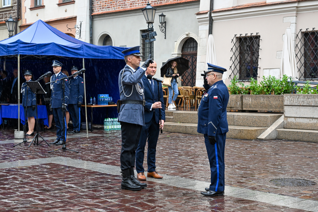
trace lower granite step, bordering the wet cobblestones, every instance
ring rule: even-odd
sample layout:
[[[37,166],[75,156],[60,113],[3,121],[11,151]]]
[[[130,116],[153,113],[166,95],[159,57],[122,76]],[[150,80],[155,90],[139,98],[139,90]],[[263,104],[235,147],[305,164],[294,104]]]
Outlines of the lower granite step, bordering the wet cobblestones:
[[[255,140],[266,129],[267,127],[246,127],[229,125],[229,132],[226,134],[226,137],[235,139]],[[197,124],[195,123],[165,122],[163,131],[202,135],[200,133],[197,133]]]

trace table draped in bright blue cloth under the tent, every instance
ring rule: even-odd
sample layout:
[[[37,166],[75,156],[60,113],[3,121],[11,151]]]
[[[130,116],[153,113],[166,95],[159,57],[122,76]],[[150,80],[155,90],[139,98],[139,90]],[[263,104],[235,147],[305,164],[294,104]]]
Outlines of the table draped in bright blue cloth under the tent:
[[[43,123],[45,126],[49,127],[49,119],[47,118],[47,112],[45,105],[38,105],[38,116],[40,120],[43,120]],[[1,110],[0,110],[0,125],[2,124],[3,118],[9,118],[9,119],[17,119],[18,118],[18,105],[17,104],[1,104]],[[36,116],[34,117],[37,118]],[[25,124],[25,118],[24,117],[24,108],[22,105],[20,105],[20,119],[21,123]]]

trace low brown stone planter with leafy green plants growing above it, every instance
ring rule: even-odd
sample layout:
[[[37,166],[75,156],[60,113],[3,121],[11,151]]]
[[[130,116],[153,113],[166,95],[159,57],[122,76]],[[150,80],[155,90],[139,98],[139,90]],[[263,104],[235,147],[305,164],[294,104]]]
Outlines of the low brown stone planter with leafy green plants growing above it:
[[[284,111],[284,96],[230,95],[227,110]]]

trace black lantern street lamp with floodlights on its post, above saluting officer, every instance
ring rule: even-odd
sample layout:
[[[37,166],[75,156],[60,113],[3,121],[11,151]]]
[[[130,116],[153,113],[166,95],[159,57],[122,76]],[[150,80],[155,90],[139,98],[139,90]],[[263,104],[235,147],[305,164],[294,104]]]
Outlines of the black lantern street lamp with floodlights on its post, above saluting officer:
[[[155,22],[155,14],[157,8],[154,8],[149,4],[149,1],[145,8],[141,9],[143,12],[143,15],[146,19],[146,23],[148,24],[148,32],[142,33],[142,38],[145,38],[145,42],[149,43],[149,54],[151,54],[152,50],[152,42],[156,40],[155,36],[157,33],[154,31],[153,23]],[[152,55],[153,58],[153,55]]]

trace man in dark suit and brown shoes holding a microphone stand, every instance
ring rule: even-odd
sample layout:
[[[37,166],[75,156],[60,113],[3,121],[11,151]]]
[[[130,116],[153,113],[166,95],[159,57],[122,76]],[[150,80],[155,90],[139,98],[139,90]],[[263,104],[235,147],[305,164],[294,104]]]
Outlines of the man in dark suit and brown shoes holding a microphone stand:
[[[145,146],[148,138],[148,153],[147,153],[147,177],[161,179],[156,172],[156,147],[160,128],[163,128],[165,121],[165,111],[163,103],[162,85],[159,83],[159,91],[157,82],[153,79],[147,79],[147,75],[154,76],[157,71],[156,62],[149,65],[145,75],[142,77],[145,86],[145,126],[142,127],[139,144],[136,150],[136,171],[138,180],[146,180],[143,168],[143,159],[145,156]],[[158,92],[160,99],[158,99]],[[161,125],[159,120],[159,110],[161,110]]]

